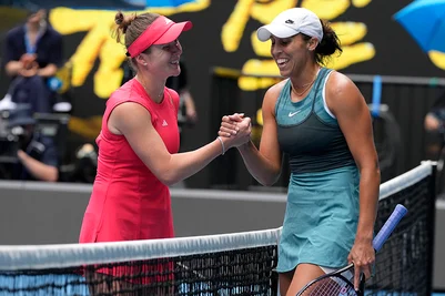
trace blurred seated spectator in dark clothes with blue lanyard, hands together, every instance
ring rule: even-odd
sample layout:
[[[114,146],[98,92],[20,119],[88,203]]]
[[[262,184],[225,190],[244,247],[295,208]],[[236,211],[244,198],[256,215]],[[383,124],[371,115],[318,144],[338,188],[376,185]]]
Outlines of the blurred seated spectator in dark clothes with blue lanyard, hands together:
[[[3,65],[11,78],[8,94],[14,103],[28,103],[33,112],[50,113],[55,98],[54,74],[62,63],[62,37],[45,20],[45,11],[32,12],[23,25],[7,33]]]

